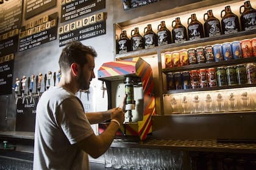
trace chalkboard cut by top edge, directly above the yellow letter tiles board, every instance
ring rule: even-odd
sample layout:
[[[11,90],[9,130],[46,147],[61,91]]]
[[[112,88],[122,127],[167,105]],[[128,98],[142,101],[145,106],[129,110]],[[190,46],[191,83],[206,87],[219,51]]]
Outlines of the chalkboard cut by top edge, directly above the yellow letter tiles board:
[[[56,0],[26,0],[25,19],[38,15],[52,7],[55,7]]]

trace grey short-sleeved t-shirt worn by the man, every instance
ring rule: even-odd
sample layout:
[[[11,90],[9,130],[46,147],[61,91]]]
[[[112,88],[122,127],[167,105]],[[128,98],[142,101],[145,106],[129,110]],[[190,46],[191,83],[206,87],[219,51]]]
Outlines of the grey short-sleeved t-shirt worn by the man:
[[[50,87],[36,114],[34,169],[89,169],[88,155],[76,143],[94,132],[79,98]]]

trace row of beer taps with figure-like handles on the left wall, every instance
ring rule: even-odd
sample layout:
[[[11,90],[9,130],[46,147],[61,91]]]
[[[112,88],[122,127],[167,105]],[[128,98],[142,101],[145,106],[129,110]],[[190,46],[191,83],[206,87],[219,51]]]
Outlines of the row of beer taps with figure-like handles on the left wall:
[[[18,100],[21,99],[26,103],[34,103],[35,104],[35,98],[40,98],[42,92],[46,91],[49,89],[51,84],[51,79],[53,77],[54,84],[56,84],[56,79],[58,83],[60,82],[60,78],[62,77],[62,72],[58,70],[58,72],[54,72],[52,76],[52,72],[49,71],[48,74],[39,73],[38,75],[32,74],[31,77],[26,77],[23,75],[23,77],[16,78],[15,79],[15,84],[13,85],[13,90],[15,91],[15,103],[18,103]],[[42,90],[42,81],[44,80],[44,90]],[[35,84],[35,85],[34,85]],[[35,86],[35,88],[34,88]],[[35,89],[35,90],[34,90]],[[27,90],[27,92],[26,92]]]

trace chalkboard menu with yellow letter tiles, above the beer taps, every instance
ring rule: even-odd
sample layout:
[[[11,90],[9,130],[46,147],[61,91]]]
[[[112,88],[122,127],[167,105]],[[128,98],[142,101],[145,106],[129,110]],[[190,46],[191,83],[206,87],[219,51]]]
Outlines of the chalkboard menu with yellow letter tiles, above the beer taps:
[[[24,26],[20,32],[19,51],[54,41],[57,37],[57,23],[58,13],[54,13]]]

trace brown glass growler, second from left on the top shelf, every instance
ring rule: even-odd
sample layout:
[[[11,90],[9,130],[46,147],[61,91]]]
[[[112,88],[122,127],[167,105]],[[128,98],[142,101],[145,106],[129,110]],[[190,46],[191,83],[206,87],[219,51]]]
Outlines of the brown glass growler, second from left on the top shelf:
[[[132,36],[132,38],[130,38],[132,50],[135,51],[135,50],[144,49],[143,37],[140,35],[138,27],[135,27],[135,29],[132,30],[132,32],[130,32],[130,35]]]

